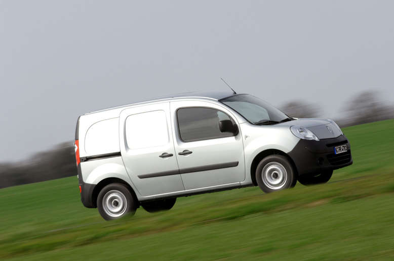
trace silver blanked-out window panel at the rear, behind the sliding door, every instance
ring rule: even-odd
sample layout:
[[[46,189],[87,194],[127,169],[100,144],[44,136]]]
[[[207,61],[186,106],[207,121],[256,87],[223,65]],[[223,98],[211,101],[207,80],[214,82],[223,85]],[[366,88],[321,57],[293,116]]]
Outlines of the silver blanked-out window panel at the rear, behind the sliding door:
[[[98,155],[120,151],[119,118],[96,122],[86,132],[85,151]]]

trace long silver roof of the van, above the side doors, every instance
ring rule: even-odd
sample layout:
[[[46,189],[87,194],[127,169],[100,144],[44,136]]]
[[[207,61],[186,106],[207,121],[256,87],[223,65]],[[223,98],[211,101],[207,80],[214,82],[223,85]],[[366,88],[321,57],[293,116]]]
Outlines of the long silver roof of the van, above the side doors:
[[[166,95],[166,96],[161,96],[161,97],[141,100],[141,101],[137,101],[137,102],[133,102],[133,103],[127,104],[127,105],[112,107],[112,108],[99,110],[99,111],[94,111],[94,112],[90,112],[90,113],[87,113],[87,114],[104,112],[104,111],[108,111],[108,110],[112,110],[112,109],[118,109],[118,108],[122,108],[122,107],[128,107],[128,106],[135,105],[135,104],[138,104],[138,103],[157,101],[157,100],[166,100],[166,99],[172,99],[172,98],[199,97],[199,98],[209,98],[209,99],[219,100],[219,99],[226,98],[226,97],[229,97],[229,96],[232,96],[232,95],[234,95],[234,93],[230,92],[230,91],[220,91],[220,92],[219,91],[206,91],[206,92],[194,92],[193,91],[193,92],[184,92],[184,93],[177,93],[177,94],[172,94],[172,95]]]

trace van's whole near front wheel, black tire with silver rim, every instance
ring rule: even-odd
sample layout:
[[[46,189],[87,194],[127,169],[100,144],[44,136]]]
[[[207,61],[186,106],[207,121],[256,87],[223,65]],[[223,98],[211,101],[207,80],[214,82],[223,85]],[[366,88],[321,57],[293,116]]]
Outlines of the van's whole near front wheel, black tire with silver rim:
[[[275,154],[260,161],[256,168],[256,181],[262,191],[270,193],[294,187],[297,176],[286,156]]]

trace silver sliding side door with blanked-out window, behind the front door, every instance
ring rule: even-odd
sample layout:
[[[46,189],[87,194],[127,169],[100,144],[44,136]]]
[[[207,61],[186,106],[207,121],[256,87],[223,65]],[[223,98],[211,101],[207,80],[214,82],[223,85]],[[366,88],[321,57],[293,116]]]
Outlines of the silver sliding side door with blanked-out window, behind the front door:
[[[170,123],[170,102],[126,109],[120,115],[122,158],[143,196],[184,190]]]

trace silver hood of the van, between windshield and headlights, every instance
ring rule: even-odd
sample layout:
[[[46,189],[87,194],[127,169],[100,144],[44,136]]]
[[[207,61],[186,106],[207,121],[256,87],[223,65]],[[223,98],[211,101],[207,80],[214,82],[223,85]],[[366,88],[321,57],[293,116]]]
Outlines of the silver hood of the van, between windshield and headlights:
[[[326,119],[297,119],[295,121],[289,121],[281,123],[284,126],[301,126],[309,129],[319,139],[330,139],[339,137],[342,132],[341,130]],[[331,132],[330,132],[331,130]]]

